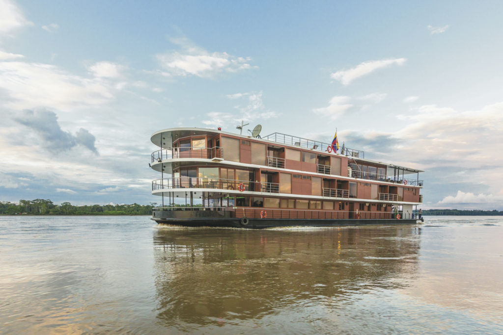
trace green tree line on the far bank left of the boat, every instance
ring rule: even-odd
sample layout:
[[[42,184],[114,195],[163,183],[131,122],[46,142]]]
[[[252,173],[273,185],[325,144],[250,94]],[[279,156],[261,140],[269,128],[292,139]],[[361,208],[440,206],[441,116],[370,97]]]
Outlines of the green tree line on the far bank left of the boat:
[[[0,201],[0,214],[16,215],[150,215],[157,203],[149,205],[107,204],[72,205],[70,202],[55,204],[49,199],[20,200],[19,203]]]

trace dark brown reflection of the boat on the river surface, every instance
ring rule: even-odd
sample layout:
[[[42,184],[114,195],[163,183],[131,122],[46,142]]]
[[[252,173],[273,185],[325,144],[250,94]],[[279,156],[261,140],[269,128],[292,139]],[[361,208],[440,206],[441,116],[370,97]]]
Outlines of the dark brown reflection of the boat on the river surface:
[[[157,321],[194,330],[314,306],[341,309],[362,294],[409,285],[420,234],[416,226],[160,228],[153,236]]]

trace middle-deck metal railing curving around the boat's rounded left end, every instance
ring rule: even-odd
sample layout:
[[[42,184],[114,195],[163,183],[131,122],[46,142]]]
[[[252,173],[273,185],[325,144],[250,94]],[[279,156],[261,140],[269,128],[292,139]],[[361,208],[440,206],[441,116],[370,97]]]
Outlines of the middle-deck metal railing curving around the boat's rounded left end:
[[[245,181],[223,178],[172,177],[152,181],[152,191],[177,188],[211,188],[222,190],[278,193],[278,183]]]

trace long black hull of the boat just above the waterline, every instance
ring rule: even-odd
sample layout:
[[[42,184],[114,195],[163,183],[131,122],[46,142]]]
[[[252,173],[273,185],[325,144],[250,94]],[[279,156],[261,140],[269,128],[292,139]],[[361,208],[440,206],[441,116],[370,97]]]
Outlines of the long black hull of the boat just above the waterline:
[[[364,225],[414,225],[417,219],[255,219],[249,218],[247,224],[242,224],[239,218],[152,218],[158,224],[184,227],[225,227],[264,229],[272,227],[343,227]]]

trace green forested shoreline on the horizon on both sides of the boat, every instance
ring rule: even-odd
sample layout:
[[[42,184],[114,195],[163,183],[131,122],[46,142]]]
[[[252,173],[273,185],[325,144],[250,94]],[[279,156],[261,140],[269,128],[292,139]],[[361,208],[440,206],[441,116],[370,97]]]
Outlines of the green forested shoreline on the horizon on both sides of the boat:
[[[0,215],[151,215],[156,202],[148,205],[132,204],[106,204],[106,205],[72,205],[70,202],[55,204],[49,199],[19,200],[19,203],[0,201]],[[172,204],[172,206],[185,207],[185,205]],[[501,215],[503,210],[481,209],[425,209],[423,216],[428,215],[455,215],[455,216],[481,216]]]

